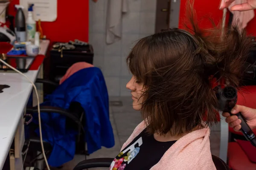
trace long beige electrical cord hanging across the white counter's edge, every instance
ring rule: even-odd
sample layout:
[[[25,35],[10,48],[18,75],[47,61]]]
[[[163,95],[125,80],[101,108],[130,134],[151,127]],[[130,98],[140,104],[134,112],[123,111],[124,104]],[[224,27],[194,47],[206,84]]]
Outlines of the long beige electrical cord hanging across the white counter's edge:
[[[50,167],[49,167],[46,155],[44,153],[44,144],[43,144],[42,127],[41,127],[40,103],[39,103],[39,96],[38,96],[38,92],[37,92],[36,86],[25,74],[21,73],[16,68],[12,67],[11,65],[9,65],[5,61],[3,61],[3,59],[0,59],[0,62],[2,62],[3,64],[7,65],[9,68],[11,68],[12,70],[16,71],[17,73],[19,73],[19,74],[23,75],[24,77],[26,77],[26,79],[33,85],[33,88],[35,89],[35,94],[36,94],[36,98],[37,98],[37,102],[38,102],[37,104],[38,104],[38,123],[39,123],[40,142],[41,142],[42,152],[43,152],[43,155],[44,155],[44,161],[45,161],[45,164],[47,166],[47,170],[50,170]]]

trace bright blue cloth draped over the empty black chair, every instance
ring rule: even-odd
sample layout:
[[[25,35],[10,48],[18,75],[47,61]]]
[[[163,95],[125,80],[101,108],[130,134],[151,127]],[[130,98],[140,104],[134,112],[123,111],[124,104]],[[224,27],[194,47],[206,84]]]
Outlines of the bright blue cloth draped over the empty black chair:
[[[71,102],[79,102],[85,112],[85,140],[88,153],[102,146],[113,147],[114,136],[109,120],[108,91],[99,68],[84,68],[66,79],[46,97],[41,105],[68,109]],[[33,121],[38,124],[37,114]],[[77,130],[65,128],[66,117],[58,113],[41,113],[43,139],[52,144],[48,163],[58,167],[73,159]],[[39,130],[36,130],[39,136]]]

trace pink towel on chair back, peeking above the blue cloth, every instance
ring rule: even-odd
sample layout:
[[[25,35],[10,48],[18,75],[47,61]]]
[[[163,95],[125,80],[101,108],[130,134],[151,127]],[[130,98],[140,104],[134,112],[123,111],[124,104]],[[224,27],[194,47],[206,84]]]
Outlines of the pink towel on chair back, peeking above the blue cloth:
[[[76,62],[73,64],[66,72],[66,74],[61,78],[60,84],[64,82],[67,78],[72,76],[74,73],[77,71],[84,69],[84,68],[89,68],[89,67],[94,67],[93,65],[87,63],[87,62]]]

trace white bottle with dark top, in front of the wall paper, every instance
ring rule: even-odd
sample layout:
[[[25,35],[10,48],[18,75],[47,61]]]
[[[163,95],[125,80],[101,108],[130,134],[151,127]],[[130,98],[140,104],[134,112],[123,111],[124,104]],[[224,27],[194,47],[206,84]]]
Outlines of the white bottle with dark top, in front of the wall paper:
[[[29,6],[28,17],[26,20],[27,41],[33,41],[35,38],[36,22],[33,20],[33,6],[34,4]]]

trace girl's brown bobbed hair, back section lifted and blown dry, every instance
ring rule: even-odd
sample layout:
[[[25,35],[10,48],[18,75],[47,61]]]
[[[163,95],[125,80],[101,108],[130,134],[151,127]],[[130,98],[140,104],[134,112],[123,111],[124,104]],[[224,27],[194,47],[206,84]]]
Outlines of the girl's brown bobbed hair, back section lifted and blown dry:
[[[187,3],[189,31],[172,28],[140,39],[127,57],[131,73],[143,82],[142,115],[149,133],[180,135],[216,123],[212,79],[239,87],[251,47],[244,30],[198,28]],[[191,33],[190,33],[191,32]]]

